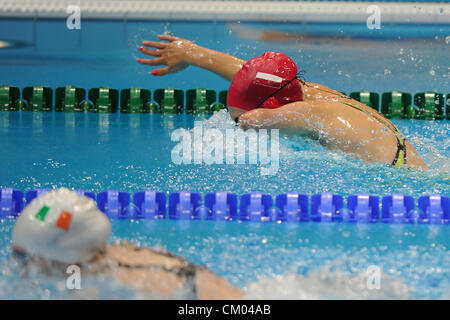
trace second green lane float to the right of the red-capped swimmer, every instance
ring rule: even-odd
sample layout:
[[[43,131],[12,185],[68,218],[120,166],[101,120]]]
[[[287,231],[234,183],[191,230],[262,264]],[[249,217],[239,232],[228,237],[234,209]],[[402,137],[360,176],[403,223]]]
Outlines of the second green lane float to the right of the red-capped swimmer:
[[[412,96],[407,92],[392,91],[381,95],[381,113],[386,118],[414,118]]]

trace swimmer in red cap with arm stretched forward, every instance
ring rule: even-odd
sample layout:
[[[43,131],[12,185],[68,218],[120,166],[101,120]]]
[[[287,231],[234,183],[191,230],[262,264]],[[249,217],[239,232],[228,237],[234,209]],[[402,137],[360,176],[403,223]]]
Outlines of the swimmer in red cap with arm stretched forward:
[[[400,130],[376,110],[336,90],[305,81],[297,65],[279,52],[266,52],[249,61],[193,42],[160,35],[162,41],[143,41],[139,50],[152,59],[149,66],[165,67],[154,76],[179,72],[188,66],[212,71],[231,81],[227,104],[231,117],[244,129],[279,129],[319,141],[366,162],[427,169]]]

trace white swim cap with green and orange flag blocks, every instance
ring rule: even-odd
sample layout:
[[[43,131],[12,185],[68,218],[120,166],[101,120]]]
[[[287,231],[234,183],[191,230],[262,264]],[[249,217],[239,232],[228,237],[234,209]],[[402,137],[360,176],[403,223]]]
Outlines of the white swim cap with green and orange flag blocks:
[[[94,200],[65,188],[34,199],[17,218],[12,245],[63,263],[91,260],[108,243],[111,224]]]

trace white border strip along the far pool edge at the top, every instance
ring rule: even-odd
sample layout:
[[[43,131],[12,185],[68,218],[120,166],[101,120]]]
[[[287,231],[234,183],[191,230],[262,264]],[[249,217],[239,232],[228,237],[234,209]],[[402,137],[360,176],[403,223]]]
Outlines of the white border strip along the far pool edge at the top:
[[[449,3],[425,2],[0,0],[0,17],[65,18],[69,5],[84,18],[363,23],[377,5],[382,23],[450,24]]]

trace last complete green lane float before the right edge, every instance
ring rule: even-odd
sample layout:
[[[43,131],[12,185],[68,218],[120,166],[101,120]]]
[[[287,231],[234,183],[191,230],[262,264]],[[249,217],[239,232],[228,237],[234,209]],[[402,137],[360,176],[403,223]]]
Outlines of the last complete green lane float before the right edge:
[[[417,119],[440,120],[444,118],[444,95],[442,93],[433,91],[416,93],[414,104],[419,107]]]

